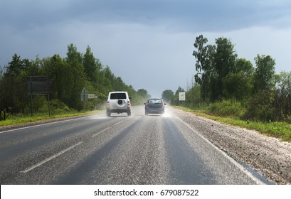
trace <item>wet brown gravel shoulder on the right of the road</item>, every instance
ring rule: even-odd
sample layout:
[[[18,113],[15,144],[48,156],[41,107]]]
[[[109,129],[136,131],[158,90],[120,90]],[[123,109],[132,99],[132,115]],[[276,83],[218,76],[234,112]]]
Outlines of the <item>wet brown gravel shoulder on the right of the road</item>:
[[[173,112],[236,161],[247,163],[277,184],[291,184],[291,143],[179,109]]]

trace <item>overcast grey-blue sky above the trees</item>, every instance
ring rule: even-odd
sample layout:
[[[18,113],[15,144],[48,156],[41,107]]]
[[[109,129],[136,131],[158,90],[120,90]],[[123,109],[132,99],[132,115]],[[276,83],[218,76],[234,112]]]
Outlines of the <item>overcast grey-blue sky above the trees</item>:
[[[70,43],[152,97],[187,89],[196,36],[231,39],[239,58],[275,58],[290,72],[290,0],[1,0],[0,65],[17,53],[66,56]]]

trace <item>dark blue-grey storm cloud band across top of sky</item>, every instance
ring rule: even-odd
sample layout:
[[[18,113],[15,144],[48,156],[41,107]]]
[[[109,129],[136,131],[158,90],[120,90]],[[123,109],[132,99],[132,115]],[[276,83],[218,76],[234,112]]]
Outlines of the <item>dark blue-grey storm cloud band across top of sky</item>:
[[[291,13],[288,1],[88,0],[2,1],[1,25],[21,30],[51,23],[165,24],[186,31],[231,31],[273,23]],[[284,24],[282,24],[284,25]],[[286,26],[286,24],[285,24]],[[289,25],[288,25],[289,26]]]

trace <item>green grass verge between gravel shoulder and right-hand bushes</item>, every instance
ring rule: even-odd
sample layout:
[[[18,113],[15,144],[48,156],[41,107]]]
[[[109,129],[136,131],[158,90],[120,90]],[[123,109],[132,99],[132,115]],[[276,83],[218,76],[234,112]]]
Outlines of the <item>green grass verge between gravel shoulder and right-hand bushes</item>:
[[[194,110],[186,107],[175,107],[186,112],[192,112],[198,116],[206,117],[223,124],[231,124],[233,126],[243,127],[245,129],[259,131],[261,134],[272,136],[281,141],[291,142],[291,124],[286,122],[255,122],[245,121],[237,117],[219,117],[209,114],[206,110]]]

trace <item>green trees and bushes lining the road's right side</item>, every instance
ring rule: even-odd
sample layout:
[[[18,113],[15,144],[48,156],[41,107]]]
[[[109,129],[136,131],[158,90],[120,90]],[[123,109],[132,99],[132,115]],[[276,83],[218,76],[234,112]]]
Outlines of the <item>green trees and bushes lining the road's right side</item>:
[[[203,35],[196,37],[193,55],[196,75],[186,91],[185,106],[205,105],[215,111],[220,104],[225,112],[235,109],[229,114],[241,119],[291,122],[291,72],[276,74],[270,55],[256,55],[254,67],[250,60],[238,58],[228,38],[216,38],[211,45]],[[179,104],[181,91],[165,90],[162,96]]]

